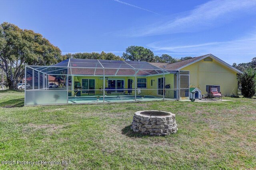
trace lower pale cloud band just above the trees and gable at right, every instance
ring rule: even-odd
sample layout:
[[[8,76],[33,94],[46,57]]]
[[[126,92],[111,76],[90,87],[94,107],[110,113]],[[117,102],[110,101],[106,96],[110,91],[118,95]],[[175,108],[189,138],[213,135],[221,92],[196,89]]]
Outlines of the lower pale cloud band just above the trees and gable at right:
[[[256,57],[256,30],[232,41],[182,45],[176,45],[168,41],[158,41],[147,46],[156,51],[155,53],[166,52],[170,55],[202,55],[212,53],[226,59],[230,64],[233,62],[249,62],[253,57]]]

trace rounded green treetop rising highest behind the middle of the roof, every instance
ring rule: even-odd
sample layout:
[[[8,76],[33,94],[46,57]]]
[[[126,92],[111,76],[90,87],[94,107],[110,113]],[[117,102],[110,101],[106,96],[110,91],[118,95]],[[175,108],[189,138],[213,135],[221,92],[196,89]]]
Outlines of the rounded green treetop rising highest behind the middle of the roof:
[[[122,56],[125,60],[155,62],[154,53],[141,46],[130,46]]]

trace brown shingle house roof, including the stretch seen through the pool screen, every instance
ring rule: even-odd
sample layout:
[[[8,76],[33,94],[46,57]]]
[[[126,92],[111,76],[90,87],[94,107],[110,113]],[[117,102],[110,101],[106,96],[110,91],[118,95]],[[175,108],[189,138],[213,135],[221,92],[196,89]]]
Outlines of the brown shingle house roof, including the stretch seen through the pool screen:
[[[138,70],[136,75],[154,75],[162,73],[162,70],[180,70],[185,66],[200,61],[206,57],[211,57],[234,70],[237,73],[242,73],[230,64],[222,61],[212,54],[202,55],[187,60],[178,61],[175,63],[148,63],[142,61],[111,61],[111,60],[95,60],[95,59],[67,59],[53,66],[30,66],[34,69],[41,70],[47,74],[82,74],[82,75],[102,75],[103,68],[105,75],[131,75],[135,74],[135,69]],[[67,72],[68,70],[68,72]]]

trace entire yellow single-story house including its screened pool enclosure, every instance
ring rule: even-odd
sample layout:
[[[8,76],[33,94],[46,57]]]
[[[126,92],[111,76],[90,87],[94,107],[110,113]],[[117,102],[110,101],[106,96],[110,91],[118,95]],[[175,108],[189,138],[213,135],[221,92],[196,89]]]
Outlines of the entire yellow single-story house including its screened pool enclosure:
[[[211,54],[171,64],[66,59],[25,69],[25,82],[32,87],[25,90],[25,105],[189,100],[190,87],[206,93],[207,85],[220,86],[230,96],[237,94],[240,72]],[[50,76],[63,76],[70,83],[48,88]]]

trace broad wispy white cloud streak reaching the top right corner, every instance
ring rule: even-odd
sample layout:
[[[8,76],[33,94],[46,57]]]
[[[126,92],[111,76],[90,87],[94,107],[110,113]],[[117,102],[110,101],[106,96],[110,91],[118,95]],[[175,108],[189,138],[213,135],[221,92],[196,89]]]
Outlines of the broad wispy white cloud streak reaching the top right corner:
[[[129,36],[162,35],[181,32],[194,32],[208,27],[215,27],[232,20],[246,12],[255,12],[256,0],[212,0],[197,6],[186,14],[170,16],[167,20],[153,25],[126,30]],[[252,9],[252,10],[250,10]],[[239,11],[241,11],[239,13]]]

